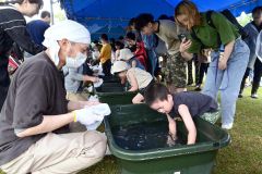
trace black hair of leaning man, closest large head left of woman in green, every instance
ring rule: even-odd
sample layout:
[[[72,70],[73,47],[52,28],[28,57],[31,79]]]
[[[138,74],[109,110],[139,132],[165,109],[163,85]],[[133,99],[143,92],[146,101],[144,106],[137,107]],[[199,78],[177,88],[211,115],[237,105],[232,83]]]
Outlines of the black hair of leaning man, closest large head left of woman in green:
[[[148,25],[148,23],[154,22],[154,16],[150,13],[142,13],[135,17],[135,29],[142,30],[143,27]]]

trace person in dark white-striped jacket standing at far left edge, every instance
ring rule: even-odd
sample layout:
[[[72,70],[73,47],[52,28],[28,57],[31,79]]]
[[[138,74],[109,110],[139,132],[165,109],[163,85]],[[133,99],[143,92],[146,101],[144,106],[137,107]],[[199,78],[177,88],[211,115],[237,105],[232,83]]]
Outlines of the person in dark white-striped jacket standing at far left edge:
[[[15,4],[0,7],[0,110],[10,85],[8,63],[13,44],[17,44],[32,54],[36,54],[44,49],[31,40],[23,16],[37,14],[41,5],[43,0],[19,0],[15,1]]]

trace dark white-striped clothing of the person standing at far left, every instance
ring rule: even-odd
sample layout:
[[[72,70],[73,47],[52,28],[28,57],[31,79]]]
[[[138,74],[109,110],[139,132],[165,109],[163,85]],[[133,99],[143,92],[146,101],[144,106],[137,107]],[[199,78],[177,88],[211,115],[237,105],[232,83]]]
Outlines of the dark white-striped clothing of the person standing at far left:
[[[8,58],[14,42],[31,54],[44,49],[31,40],[26,32],[25,18],[19,11],[11,7],[0,7],[0,110],[10,84]]]

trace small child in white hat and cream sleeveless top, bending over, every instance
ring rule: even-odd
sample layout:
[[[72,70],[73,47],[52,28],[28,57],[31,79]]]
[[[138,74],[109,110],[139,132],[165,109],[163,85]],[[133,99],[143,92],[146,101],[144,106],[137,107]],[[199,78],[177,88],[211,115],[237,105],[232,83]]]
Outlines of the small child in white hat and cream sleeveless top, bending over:
[[[153,76],[139,67],[130,67],[127,62],[116,61],[112,65],[112,73],[119,76],[121,83],[130,84],[128,91],[136,91],[139,94],[132,99],[133,103],[141,103],[144,100],[144,90],[148,85],[153,85]]]

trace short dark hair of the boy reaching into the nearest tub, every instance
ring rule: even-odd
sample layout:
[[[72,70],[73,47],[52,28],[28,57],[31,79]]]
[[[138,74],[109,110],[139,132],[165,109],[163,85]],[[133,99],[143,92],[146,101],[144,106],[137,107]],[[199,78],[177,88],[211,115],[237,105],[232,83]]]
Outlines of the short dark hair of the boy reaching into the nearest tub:
[[[152,105],[156,100],[167,100],[168,95],[170,95],[170,92],[165,85],[159,83],[150,85],[144,92],[145,103]]]

